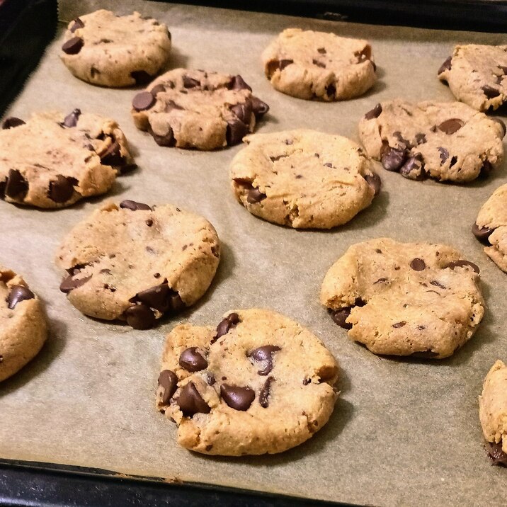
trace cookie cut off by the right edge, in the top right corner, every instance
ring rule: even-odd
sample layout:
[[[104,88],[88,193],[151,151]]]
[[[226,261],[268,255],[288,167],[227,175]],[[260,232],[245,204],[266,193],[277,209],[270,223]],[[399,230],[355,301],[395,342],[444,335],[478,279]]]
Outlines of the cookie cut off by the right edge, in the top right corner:
[[[457,45],[438,69],[458,101],[479,111],[497,109],[507,101],[507,45]]]

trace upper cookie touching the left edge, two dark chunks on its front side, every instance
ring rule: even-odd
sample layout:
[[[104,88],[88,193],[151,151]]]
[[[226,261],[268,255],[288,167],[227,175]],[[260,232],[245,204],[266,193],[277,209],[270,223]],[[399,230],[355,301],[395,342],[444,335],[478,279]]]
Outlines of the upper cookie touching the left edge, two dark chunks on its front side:
[[[106,193],[132,169],[127,139],[114,120],[74,109],[6,118],[0,130],[0,197],[9,203],[66,207]]]

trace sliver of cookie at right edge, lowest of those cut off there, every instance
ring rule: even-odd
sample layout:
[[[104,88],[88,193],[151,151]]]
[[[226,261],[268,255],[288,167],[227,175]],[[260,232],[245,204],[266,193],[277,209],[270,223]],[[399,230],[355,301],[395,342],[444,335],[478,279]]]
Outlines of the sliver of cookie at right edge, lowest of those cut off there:
[[[479,418],[493,465],[507,466],[507,366],[501,360],[489,370],[479,396]]]

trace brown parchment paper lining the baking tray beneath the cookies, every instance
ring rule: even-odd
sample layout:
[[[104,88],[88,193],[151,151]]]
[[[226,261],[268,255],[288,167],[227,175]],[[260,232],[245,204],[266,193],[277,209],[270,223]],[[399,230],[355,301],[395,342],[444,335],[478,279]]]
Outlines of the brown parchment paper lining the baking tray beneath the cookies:
[[[358,139],[361,115],[382,100],[452,101],[436,72],[457,42],[499,44],[503,35],[443,32],[315,21],[148,1],[62,1],[69,21],[101,6],[133,9],[166,22],[173,35],[169,67],[240,73],[271,110],[258,132],[309,127]],[[62,25],[63,26],[63,25]],[[380,81],[362,98],[302,101],[271,88],[264,47],[284,28],[334,31],[368,38]],[[409,181],[376,164],[383,189],[368,210],[331,232],[263,222],[229,188],[228,165],[241,147],[201,153],[158,147],[130,118],[132,89],[113,90],[75,79],[59,61],[62,29],[10,115],[41,109],[115,118],[139,169],[113,193],[59,211],[0,202],[0,261],[23,274],[45,301],[51,336],[42,353],[0,385],[0,457],[98,467],[377,505],[503,503],[507,470],[491,467],[483,449],[477,397],[496,358],[507,360],[506,276],[482,252],[470,226],[492,191],[506,183],[505,164],[486,182],[456,186]],[[53,257],[76,222],[106,200],[174,203],[199,212],[222,239],[222,261],[202,301],[178,318],[136,331],[84,317],[59,291]],[[319,304],[326,270],[357,241],[452,244],[482,270],[487,312],[479,331],[448,360],[380,358],[348,340]],[[280,455],[204,457],[179,448],[176,427],[154,409],[166,334],[190,320],[215,325],[232,308],[269,307],[321,338],[341,365],[341,397],[329,423],[307,443]]]

